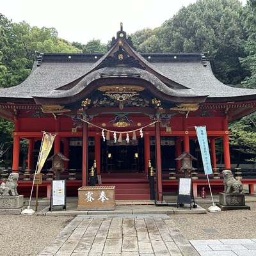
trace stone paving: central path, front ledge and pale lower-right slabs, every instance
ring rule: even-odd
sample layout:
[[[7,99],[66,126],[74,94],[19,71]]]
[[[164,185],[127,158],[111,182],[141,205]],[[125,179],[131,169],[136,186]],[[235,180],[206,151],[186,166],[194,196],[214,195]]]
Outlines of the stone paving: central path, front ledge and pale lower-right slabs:
[[[256,239],[188,241],[175,228],[170,214],[202,213],[201,207],[116,205],[115,211],[77,212],[49,207],[40,215],[76,216],[38,256],[256,256]],[[147,214],[145,214],[147,212]]]

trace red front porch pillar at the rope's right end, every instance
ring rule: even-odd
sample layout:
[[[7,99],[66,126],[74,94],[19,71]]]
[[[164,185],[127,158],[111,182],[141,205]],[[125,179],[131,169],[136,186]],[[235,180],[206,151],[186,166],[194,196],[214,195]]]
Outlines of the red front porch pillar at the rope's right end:
[[[157,177],[157,192],[163,192],[162,186],[162,164],[161,164],[161,128],[160,122],[155,124],[155,138],[156,138],[156,177]],[[160,195],[161,196],[161,195]]]

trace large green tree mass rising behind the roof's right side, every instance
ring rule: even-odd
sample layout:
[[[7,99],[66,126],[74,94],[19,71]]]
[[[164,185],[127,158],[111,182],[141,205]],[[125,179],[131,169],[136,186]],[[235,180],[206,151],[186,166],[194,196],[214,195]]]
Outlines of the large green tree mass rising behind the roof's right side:
[[[141,52],[209,51],[207,59],[215,76],[225,84],[240,84],[246,76],[239,62],[239,57],[245,56],[242,15],[239,0],[198,0],[182,7],[160,28],[145,29],[145,40],[137,40],[138,49]],[[152,42],[158,42],[157,47]]]

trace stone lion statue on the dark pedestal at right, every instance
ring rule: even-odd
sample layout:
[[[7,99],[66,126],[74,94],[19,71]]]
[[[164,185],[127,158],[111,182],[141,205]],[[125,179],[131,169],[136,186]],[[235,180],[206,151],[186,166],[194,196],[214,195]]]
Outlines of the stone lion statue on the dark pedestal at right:
[[[243,184],[240,180],[236,180],[230,170],[223,170],[224,191],[223,193],[241,193],[243,191]]]

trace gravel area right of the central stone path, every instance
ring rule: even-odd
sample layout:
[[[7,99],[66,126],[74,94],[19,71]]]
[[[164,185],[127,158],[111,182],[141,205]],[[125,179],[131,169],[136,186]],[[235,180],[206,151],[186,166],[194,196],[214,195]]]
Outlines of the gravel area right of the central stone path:
[[[208,209],[212,204],[198,204]],[[188,240],[256,238],[256,202],[248,202],[250,210],[207,212],[207,214],[171,215],[177,228]],[[214,229],[218,233],[205,233]],[[211,230],[212,231],[212,230]]]

